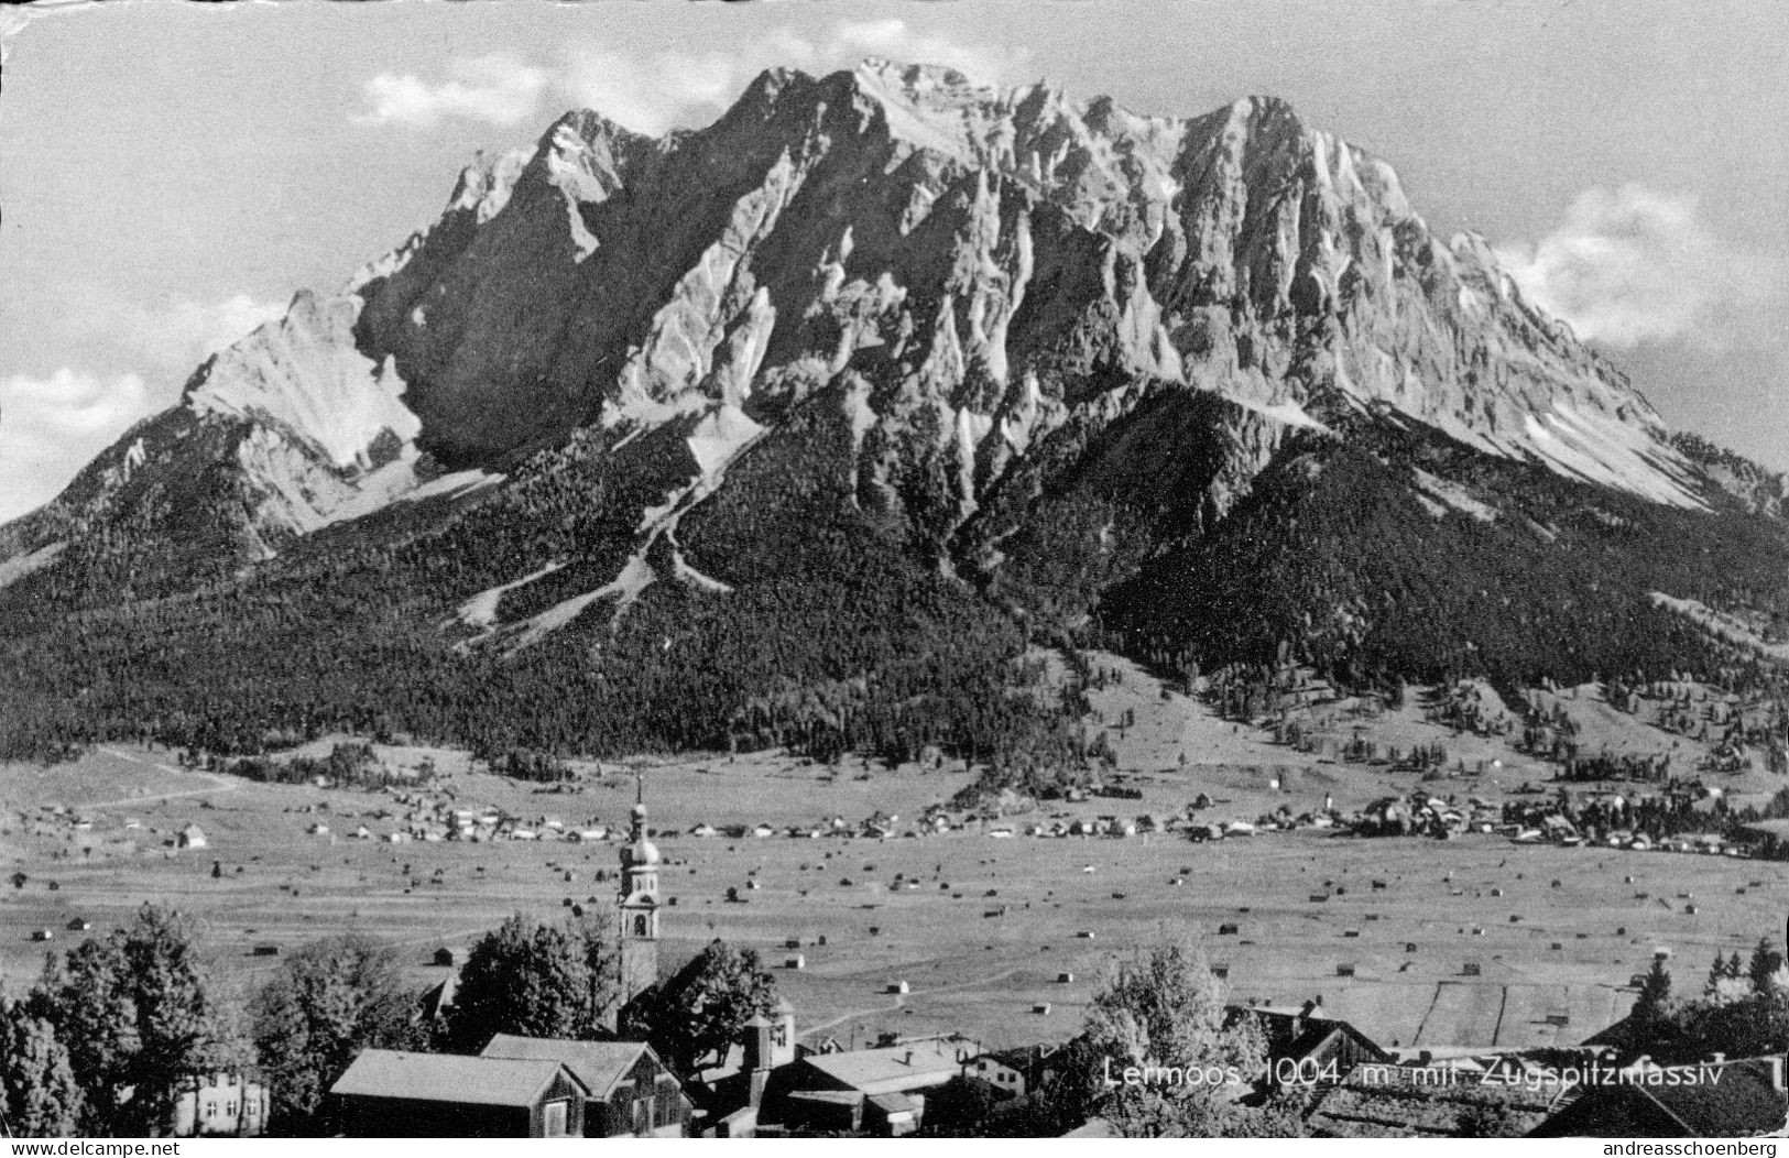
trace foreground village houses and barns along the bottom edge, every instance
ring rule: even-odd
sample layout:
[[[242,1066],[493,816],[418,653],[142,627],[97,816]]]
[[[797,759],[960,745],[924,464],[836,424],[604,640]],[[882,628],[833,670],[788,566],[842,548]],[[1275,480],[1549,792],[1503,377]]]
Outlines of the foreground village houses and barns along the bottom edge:
[[[1229,1006],[1267,1043],[1238,1095],[1290,1092],[1315,1137],[1748,1137],[1784,1129],[1784,1060],[1657,1065],[1608,1047],[1383,1049],[1318,1000]],[[1047,1092],[1056,1045],[984,1049],[961,1035],[886,1035],[862,1049],[796,1040],[782,1002],[723,1067],[673,1074],[644,1042],[497,1035],[478,1056],[363,1051],[331,1088],[349,1137],[902,1137],[954,1129],[964,1106]],[[982,1097],[962,1097],[975,1090]],[[930,1117],[928,1117],[930,1106]],[[1098,1120],[1075,1133],[1102,1133]]]

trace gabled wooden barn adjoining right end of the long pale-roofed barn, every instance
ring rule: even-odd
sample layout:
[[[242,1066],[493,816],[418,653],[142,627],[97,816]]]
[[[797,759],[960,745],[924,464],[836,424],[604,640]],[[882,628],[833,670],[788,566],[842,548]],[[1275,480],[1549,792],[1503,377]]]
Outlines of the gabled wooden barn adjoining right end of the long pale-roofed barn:
[[[646,1042],[574,1042],[499,1033],[479,1058],[562,1063],[587,1090],[587,1138],[682,1138],[689,1128],[689,1095]]]

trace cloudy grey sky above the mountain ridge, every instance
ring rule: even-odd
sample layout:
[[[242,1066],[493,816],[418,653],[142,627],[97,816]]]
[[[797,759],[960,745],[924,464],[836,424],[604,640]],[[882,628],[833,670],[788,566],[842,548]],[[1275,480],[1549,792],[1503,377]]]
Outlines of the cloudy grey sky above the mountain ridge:
[[[649,132],[864,55],[1163,115],[1277,95],[1481,233],[1673,428],[1789,469],[1775,0],[104,0],[0,11],[0,521],[476,150]]]

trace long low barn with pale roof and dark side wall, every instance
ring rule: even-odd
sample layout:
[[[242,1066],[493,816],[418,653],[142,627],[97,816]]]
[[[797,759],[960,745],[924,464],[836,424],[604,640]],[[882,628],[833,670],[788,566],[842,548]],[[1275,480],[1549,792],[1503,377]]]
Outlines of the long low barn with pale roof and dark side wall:
[[[553,1060],[363,1049],[329,1097],[349,1138],[578,1138],[589,1090]]]

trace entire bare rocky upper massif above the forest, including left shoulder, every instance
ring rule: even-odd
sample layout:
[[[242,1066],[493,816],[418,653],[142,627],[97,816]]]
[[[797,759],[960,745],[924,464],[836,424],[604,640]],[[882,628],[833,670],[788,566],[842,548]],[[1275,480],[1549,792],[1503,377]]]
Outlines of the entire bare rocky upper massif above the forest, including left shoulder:
[[[1134,417],[1175,392],[1208,399],[1181,410],[1209,437]],[[998,566],[1070,476],[1147,490],[1125,458],[1184,460],[1156,507],[1209,528],[1288,439],[1358,422],[1703,503],[1658,415],[1480,238],[1433,236],[1386,163],[1285,102],[1177,120],[866,61],[767,72],[701,131],[574,111],[479,158],[433,226],[200,367],[11,553],[131,503],[175,542],[191,515],[154,514],[157,480],[202,476],[224,498],[200,521],[258,558],[437,462],[510,471],[583,428],[614,447],[805,406],[852,437],[787,469],[846,471],[859,512],[946,569]],[[673,489],[708,494],[755,442],[691,440]]]

